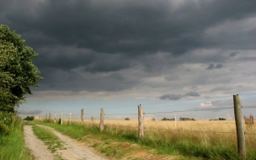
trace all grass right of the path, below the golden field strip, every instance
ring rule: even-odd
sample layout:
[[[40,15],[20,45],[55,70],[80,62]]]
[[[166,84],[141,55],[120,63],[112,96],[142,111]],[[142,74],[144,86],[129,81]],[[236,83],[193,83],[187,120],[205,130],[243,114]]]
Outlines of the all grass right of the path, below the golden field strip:
[[[124,125],[106,126],[105,130],[100,132],[98,125],[93,124],[43,124],[79,141],[85,141],[99,152],[114,159],[136,159],[136,157],[139,157],[137,159],[240,159],[237,157],[236,137],[228,134],[211,133],[209,136],[205,133],[159,130],[147,131],[145,138],[139,140],[136,128],[124,127]],[[256,149],[253,143],[255,137],[249,138],[248,141],[251,142],[247,143],[247,159],[255,159]],[[150,158],[140,154],[159,157],[162,155],[162,157]]]

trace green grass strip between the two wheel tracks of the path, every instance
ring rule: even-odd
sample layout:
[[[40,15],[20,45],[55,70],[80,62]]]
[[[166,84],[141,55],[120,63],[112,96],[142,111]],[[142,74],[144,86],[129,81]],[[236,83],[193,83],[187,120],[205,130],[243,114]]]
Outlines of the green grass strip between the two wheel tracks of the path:
[[[63,141],[61,141],[50,129],[33,126],[33,131],[35,136],[37,136],[41,141],[44,141],[50,152],[56,153],[58,150],[66,149],[63,147]],[[61,156],[57,153],[55,154],[55,157],[56,159],[61,159]]]

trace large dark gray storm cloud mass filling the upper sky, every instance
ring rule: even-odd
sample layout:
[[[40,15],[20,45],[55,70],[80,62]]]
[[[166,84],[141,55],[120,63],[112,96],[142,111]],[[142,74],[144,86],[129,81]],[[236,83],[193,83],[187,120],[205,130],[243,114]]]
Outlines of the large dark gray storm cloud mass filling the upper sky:
[[[253,24],[254,6],[232,0],[3,0],[0,20],[40,53],[35,65],[45,78],[35,90],[120,91],[183,64],[226,68],[238,52],[237,61],[255,61],[240,57],[241,50],[256,49],[255,27],[230,29],[240,21]],[[227,55],[204,52],[227,49]],[[171,82],[182,74],[165,77]]]

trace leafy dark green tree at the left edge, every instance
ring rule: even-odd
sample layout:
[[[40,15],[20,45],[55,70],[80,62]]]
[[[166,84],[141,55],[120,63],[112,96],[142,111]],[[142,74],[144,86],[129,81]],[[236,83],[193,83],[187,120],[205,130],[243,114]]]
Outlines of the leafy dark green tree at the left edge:
[[[29,87],[37,87],[42,79],[33,64],[38,54],[24,41],[8,26],[0,25],[0,111],[15,112],[25,94],[32,94]]]

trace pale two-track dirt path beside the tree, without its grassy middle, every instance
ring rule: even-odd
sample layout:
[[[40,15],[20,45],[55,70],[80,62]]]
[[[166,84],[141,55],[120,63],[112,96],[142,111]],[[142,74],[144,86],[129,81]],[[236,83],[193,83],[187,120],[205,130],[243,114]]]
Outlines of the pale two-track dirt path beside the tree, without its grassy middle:
[[[61,141],[64,141],[65,150],[59,150],[56,153],[60,155],[63,159],[72,159],[72,160],[105,160],[106,158],[100,157],[93,152],[93,148],[85,147],[78,141],[61,135],[60,132],[55,131],[51,127],[45,125],[39,125],[41,127],[50,128],[56,136],[58,136]],[[35,155],[35,160],[53,160],[55,159],[54,155],[47,150],[43,141],[37,139],[32,131],[31,125],[24,125],[24,135],[25,135],[25,144]]]

